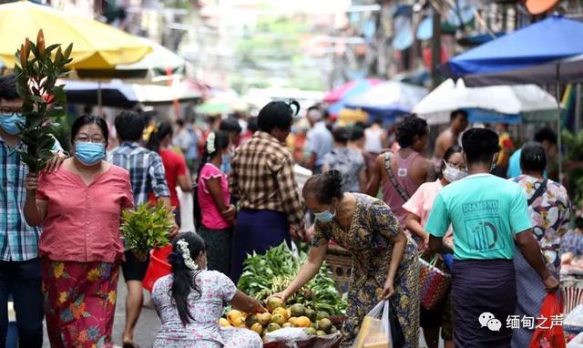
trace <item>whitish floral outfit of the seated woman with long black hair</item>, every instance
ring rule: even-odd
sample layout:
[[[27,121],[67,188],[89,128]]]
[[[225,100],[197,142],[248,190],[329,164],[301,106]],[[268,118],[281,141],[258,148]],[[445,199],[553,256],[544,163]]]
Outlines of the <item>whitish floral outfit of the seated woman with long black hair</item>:
[[[191,273],[194,276],[194,272]],[[160,278],[154,284],[152,300],[162,325],[154,348],[261,348],[259,334],[246,329],[223,329],[219,318],[224,303],[230,302],[237,288],[219,271],[200,271],[196,282],[200,295],[189,294],[189,310],[192,318],[185,326],[180,321],[179,311],[170,297],[172,275]]]

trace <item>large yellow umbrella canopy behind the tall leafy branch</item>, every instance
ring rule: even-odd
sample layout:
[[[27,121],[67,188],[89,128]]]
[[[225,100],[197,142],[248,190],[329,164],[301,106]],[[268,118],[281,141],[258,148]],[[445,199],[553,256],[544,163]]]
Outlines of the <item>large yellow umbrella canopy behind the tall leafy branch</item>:
[[[49,6],[27,1],[0,5],[0,59],[15,65],[16,48],[26,37],[36,41],[43,29],[46,46],[73,43],[69,65],[74,69],[109,69],[142,59],[152,48],[137,37],[93,19],[70,15]]]

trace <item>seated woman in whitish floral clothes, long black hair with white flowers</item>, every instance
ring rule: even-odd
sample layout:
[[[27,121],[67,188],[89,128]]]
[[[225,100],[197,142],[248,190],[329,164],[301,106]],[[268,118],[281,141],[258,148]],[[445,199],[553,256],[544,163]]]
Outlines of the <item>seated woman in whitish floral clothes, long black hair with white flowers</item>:
[[[265,312],[261,303],[239,292],[229,277],[207,271],[204,240],[180,233],[169,256],[172,274],[154,284],[152,300],[162,325],[154,348],[261,348],[259,334],[219,326],[224,303],[242,312]]]

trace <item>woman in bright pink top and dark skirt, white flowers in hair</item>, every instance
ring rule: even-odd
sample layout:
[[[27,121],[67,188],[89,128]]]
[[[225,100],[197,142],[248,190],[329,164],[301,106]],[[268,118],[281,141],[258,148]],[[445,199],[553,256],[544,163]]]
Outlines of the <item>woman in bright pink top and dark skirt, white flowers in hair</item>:
[[[230,273],[231,241],[235,206],[230,204],[227,174],[220,170],[229,156],[229,133],[220,130],[207,137],[197,185],[198,232],[209,246],[209,269]]]

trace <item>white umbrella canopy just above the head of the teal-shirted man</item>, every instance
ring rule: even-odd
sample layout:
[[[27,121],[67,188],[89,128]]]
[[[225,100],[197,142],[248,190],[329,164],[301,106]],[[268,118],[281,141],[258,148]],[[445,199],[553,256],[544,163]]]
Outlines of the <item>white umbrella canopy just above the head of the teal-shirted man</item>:
[[[455,83],[450,78],[424,97],[413,112],[429,124],[444,124],[458,108],[547,120],[556,116],[557,99],[536,85],[465,87],[463,79]]]

